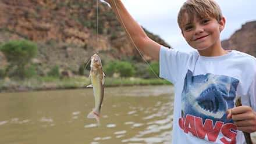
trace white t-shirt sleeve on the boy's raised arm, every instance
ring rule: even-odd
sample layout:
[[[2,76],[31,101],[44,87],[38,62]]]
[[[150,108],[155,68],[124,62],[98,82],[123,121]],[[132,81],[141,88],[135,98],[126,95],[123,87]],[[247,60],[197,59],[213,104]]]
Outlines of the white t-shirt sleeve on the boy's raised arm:
[[[159,53],[159,77],[175,84],[182,71],[186,69],[188,60],[189,53],[161,46]]]

